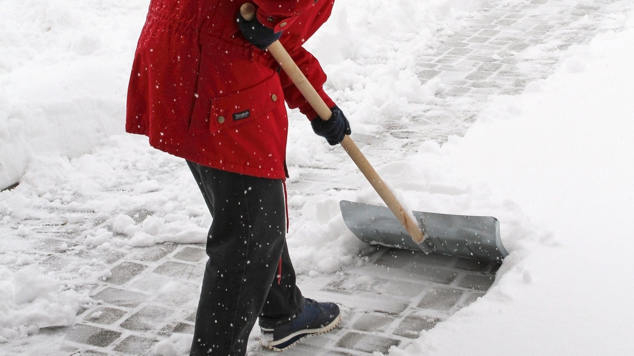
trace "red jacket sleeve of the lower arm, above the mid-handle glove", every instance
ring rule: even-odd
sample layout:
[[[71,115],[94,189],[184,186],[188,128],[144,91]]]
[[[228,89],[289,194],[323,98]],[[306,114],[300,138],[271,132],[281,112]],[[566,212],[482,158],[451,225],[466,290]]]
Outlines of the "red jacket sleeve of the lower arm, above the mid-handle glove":
[[[321,99],[328,105],[328,108],[335,106],[334,101],[330,99],[328,94],[323,90],[323,84],[326,82],[326,73],[323,72],[321,65],[314,58],[313,54],[306,51],[306,49],[300,47],[293,53],[290,53],[297,67],[306,75],[306,79],[313,84],[313,87],[321,96]],[[311,105],[304,99],[302,93],[295,87],[295,84],[288,78],[288,75],[283,70],[280,72],[281,87],[284,91],[284,98],[288,107],[291,109],[299,108],[299,111],[306,115],[309,120],[316,118],[317,112],[311,107]]]

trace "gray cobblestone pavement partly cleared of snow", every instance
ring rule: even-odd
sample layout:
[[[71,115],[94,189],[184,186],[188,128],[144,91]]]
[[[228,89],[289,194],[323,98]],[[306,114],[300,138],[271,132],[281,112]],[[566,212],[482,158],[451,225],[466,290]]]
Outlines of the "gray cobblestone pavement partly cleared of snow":
[[[553,71],[563,49],[590,41],[598,33],[598,24],[609,22],[612,4],[533,0],[482,11],[443,39],[436,53],[419,58],[420,78],[439,78],[447,87],[439,102],[425,106],[407,125],[386,123],[381,135],[398,139],[408,151],[424,139],[442,143],[451,134],[462,134],[489,96],[522,92],[527,83]],[[540,56],[531,56],[536,51]],[[440,121],[454,125],[437,131]],[[367,151],[370,157],[388,161],[396,154],[404,155],[391,152],[393,139],[387,147],[382,146],[381,137],[355,138],[361,145],[372,144]],[[328,180],[330,172],[299,169],[302,179],[290,182],[289,193],[320,193],[316,191],[320,185],[311,182]],[[137,222],[146,215],[143,211],[131,214]],[[99,227],[102,222],[97,217],[87,224]],[[68,257],[60,246],[81,244],[72,228],[48,221],[39,231],[50,236],[39,245],[39,253],[46,256],[44,266],[59,269],[73,258],[84,259],[98,261],[112,273],[91,294],[103,303],[81,310],[74,326],[42,329],[37,336],[59,339],[63,345],[59,355],[151,355],[158,341],[173,333],[192,333],[204,246],[163,244],[125,251],[90,250]],[[365,262],[357,267],[328,276],[299,276],[305,295],[339,303],[343,319],[337,329],[308,338],[286,355],[370,355],[385,353],[391,346],[404,347],[420,331],[484,295],[499,267],[387,248],[368,247],[362,254]],[[257,336],[256,331],[250,353],[272,353],[257,345]],[[36,341],[2,347],[25,350],[20,345],[25,342]]]

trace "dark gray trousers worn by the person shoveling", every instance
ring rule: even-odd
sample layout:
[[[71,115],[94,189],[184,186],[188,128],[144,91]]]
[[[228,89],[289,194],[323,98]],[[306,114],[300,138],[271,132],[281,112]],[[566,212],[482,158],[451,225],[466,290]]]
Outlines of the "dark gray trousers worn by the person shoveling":
[[[214,218],[190,355],[243,356],[257,317],[276,327],[304,307],[286,245],[282,181],[187,163]]]

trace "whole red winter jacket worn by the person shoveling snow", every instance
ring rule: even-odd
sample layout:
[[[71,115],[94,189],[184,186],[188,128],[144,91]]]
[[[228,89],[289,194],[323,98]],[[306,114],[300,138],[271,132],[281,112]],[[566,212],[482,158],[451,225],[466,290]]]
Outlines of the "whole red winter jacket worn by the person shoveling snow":
[[[245,0],[246,1],[246,0]],[[324,23],[333,0],[252,0],[329,107],[326,75],[301,46]],[[152,0],[127,96],[126,131],[192,162],[282,179],[288,120],[284,101],[317,117],[268,52],[236,23],[242,2]]]

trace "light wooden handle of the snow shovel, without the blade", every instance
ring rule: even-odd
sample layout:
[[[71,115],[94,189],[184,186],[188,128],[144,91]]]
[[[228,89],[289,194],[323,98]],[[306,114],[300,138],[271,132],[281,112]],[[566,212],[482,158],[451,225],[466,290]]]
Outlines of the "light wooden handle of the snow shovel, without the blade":
[[[250,3],[243,4],[240,8],[240,13],[245,20],[252,21],[256,16],[256,7]],[[319,96],[313,85],[306,79],[304,73],[297,67],[295,61],[288,55],[288,52],[281,45],[280,41],[273,42],[267,49],[273,58],[278,61],[280,67],[288,75],[290,80],[292,80],[293,84],[295,84],[295,87],[299,89],[304,95],[304,98],[306,98],[308,103],[310,103],[317,112],[321,120],[329,120],[332,116],[332,111],[330,111],[330,108],[328,108],[323,99],[321,99],[321,96]],[[403,227],[408,234],[410,234],[411,238],[415,242],[421,243],[423,239],[425,239],[425,234],[404,210],[403,205],[396,199],[394,193],[387,187],[381,177],[378,176],[377,171],[370,165],[370,162],[368,162],[363,153],[361,153],[361,150],[359,150],[350,136],[346,135],[346,137],[344,137],[344,141],[341,141],[341,146],[346,150],[357,167],[359,167],[361,173],[365,175],[368,182],[372,184],[372,187],[385,202],[385,205],[394,213],[396,219],[403,224]],[[425,252],[429,253],[429,251]]]

